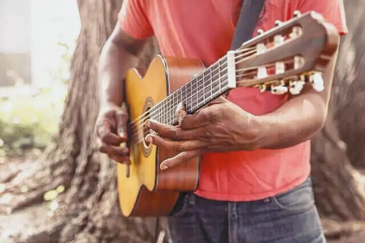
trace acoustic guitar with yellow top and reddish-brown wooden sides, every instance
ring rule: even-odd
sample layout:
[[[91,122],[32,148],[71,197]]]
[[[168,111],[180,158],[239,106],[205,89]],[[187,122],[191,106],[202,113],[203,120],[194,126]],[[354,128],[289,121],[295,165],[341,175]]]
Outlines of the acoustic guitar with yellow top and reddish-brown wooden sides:
[[[129,114],[130,165],[117,164],[120,209],[125,217],[167,216],[179,193],[199,182],[199,158],[165,170],[160,163],[175,156],[145,142],[147,119],[176,125],[184,103],[189,114],[236,87],[298,95],[304,85],[323,90],[321,72],[338,48],[339,33],[320,14],[295,12],[293,18],[258,35],[204,67],[200,60],[155,57],[144,77],[133,68],[125,79]]]

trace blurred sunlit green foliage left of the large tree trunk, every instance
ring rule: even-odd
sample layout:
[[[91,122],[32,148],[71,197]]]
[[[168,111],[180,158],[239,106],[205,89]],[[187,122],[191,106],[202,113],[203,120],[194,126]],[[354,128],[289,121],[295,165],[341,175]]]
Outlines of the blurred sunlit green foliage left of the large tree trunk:
[[[44,70],[51,82],[42,82],[46,85],[31,93],[32,87],[16,80],[16,95],[0,99],[0,158],[43,149],[58,130],[74,49],[61,41],[56,45],[59,61],[52,63],[52,70]]]

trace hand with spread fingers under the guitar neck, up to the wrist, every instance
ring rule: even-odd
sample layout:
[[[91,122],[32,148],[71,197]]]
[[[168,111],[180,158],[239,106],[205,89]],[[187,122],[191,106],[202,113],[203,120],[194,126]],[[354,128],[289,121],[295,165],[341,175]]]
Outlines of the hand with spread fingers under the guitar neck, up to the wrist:
[[[178,153],[161,163],[165,169],[188,161],[204,152],[254,150],[259,137],[254,116],[223,97],[197,113],[177,110],[178,126],[148,120],[146,125],[159,135],[149,134],[147,142]]]

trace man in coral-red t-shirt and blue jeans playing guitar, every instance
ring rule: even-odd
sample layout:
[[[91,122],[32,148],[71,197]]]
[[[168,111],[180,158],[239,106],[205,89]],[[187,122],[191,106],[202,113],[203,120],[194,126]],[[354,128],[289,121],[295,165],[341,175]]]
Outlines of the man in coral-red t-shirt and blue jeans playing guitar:
[[[143,44],[155,36],[162,55],[199,58],[209,66],[229,50],[239,0],[124,0],[100,57],[100,151],[128,162],[119,148],[127,115],[122,82]],[[267,0],[257,28],[288,20],[295,10],[319,12],[347,32],[341,0]],[[301,95],[232,90],[197,114],[178,112],[178,128],[147,122],[145,139],[180,149],[162,169],[201,155],[199,187],[181,194],[168,218],[173,242],[325,242],[310,177],[310,142],[324,124],[337,53],[323,74],[325,90]],[[177,134],[173,136],[171,134]],[[202,135],[205,134],[205,135]],[[208,137],[207,137],[208,136]]]

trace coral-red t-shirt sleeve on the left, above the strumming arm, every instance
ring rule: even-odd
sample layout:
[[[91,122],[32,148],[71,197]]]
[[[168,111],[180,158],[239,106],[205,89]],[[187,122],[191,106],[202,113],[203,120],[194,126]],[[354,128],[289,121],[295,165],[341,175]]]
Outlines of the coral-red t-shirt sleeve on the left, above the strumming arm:
[[[122,30],[135,39],[147,39],[153,36],[153,28],[144,4],[141,0],[124,0],[118,15]]]

